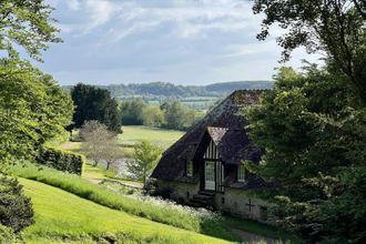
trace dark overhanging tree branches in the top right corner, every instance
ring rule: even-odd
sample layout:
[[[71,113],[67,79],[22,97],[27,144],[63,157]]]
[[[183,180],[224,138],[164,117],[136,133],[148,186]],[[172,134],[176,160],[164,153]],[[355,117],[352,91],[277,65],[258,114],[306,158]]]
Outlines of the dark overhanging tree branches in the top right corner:
[[[277,39],[284,60],[297,47],[308,52],[324,51],[327,62],[342,70],[366,103],[366,3],[364,0],[255,0],[255,13],[264,13],[264,40],[270,27],[278,24],[287,32]]]

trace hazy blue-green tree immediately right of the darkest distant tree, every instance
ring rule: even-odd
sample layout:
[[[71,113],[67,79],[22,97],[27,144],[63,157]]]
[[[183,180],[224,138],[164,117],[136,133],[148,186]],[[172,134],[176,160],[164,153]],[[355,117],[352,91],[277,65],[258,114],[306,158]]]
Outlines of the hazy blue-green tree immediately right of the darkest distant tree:
[[[141,98],[124,101],[121,104],[121,115],[123,124],[125,125],[141,125],[143,124],[143,110],[146,106]]]

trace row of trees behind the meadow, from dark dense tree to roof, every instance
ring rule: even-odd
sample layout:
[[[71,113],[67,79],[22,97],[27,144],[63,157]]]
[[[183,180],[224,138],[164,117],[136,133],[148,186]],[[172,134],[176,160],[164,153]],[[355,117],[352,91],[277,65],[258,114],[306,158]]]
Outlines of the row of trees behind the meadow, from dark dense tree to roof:
[[[82,83],[71,89],[71,98],[77,108],[70,130],[81,128],[87,121],[99,121],[115,133],[122,132],[122,124],[187,130],[204,116],[204,112],[189,109],[179,101],[159,106],[135,98],[119,103],[108,90]]]

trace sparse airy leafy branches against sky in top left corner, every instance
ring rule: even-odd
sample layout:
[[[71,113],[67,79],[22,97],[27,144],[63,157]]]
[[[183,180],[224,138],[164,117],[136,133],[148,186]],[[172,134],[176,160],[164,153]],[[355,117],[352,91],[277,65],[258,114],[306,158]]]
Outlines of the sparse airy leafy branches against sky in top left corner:
[[[31,58],[41,60],[40,51],[47,50],[49,42],[61,41],[52,26],[52,10],[43,0],[0,1],[0,50],[13,55],[20,45]]]

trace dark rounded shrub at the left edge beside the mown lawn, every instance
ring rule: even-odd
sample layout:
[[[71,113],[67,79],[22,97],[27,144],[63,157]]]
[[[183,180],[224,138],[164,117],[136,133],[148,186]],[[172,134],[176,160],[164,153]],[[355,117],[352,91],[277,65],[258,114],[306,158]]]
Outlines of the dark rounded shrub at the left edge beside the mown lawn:
[[[16,179],[1,174],[0,225],[11,227],[14,232],[19,232],[31,224],[33,224],[31,200],[23,195],[22,185],[20,185]]]

